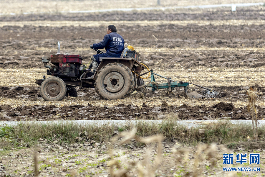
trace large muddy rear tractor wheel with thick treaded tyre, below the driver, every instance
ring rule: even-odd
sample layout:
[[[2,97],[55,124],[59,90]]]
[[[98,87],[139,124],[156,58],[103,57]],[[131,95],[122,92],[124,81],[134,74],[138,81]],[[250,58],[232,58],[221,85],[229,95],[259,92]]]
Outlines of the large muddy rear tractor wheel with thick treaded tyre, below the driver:
[[[134,87],[130,69],[120,63],[103,66],[95,79],[95,90],[105,100],[122,99],[129,96]]]

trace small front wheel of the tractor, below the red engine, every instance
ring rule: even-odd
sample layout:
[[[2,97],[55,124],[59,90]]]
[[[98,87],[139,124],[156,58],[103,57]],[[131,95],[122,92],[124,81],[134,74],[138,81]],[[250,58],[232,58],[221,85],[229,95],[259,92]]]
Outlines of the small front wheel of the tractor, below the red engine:
[[[66,85],[58,77],[46,78],[40,86],[40,94],[45,101],[61,101],[66,94]]]

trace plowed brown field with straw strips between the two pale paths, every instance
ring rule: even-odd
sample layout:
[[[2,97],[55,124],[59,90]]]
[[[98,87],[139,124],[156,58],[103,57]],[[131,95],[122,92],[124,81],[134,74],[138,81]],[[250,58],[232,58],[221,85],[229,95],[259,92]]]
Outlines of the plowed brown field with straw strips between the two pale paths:
[[[80,24],[72,25],[75,21]],[[102,101],[94,89],[83,88],[77,89],[77,98],[43,101],[34,84],[34,78],[41,79],[45,73],[41,57],[57,53],[60,41],[61,53],[79,54],[84,63],[89,62],[94,54],[89,46],[103,39],[108,21],[138,50],[141,62],[155,72],[215,88],[222,98],[188,99],[182,88],[175,91],[175,98],[165,98],[160,91],[113,102]],[[252,86],[265,93],[263,6],[238,7],[233,14],[229,8],[185,13],[31,14],[0,16],[0,22],[0,120],[152,120],[168,115],[178,119],[251,119],[246,90]],[[205,73],[200,75],[202,71]],[[189,89],[194,90],[201,91]],[[264,95],[258,97],[259,119],[265,118],[264,100]]]

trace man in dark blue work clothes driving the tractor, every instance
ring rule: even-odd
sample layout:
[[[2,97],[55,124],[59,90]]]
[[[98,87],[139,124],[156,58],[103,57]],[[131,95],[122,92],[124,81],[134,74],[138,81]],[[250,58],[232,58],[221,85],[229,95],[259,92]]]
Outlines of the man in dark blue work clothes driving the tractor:
[[[92,58],[92,70],[95,73],[97,67],[100,63],[100,57],[118,57],[123,51],[124,40],[121,35],[117,34],[117,29],[114,25],[110,25],[107,27],[107,35],[104,36],[104,39],[97,44],[90,45],[90,48],[94,49],[103,49],[105,48],[106,53],[93,55]],[[88,68],[91,69],[91,68]],[[93,77],[93,76],[92,76]]]

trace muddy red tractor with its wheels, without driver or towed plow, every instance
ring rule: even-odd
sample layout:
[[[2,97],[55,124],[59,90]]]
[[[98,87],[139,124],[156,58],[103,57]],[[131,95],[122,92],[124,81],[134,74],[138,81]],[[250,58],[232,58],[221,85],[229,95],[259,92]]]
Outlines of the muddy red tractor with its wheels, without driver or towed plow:
[[[93,48],[94,49],[94,48]],[[97,54],[103,53],[94,49]],[[40,86],[40,94],[46,101],[62,100],[64,96],[77,97],[75,87],[95,88],[97,94],[106,100],[122,99],[129,96],[134,90],[143,89],[144,82],[136,78],[144,69],[139,63],[138,52],[128,51],[127,58],[100,58],[100,64],[95,74],[82,64],[80,55],[68,55],[58,52],[51,57],[42,57],[47,69],[44,79],[36,79]],[[48,65],[52,63],[52,65]],[[93,76],[90,79],[88,77]]]

